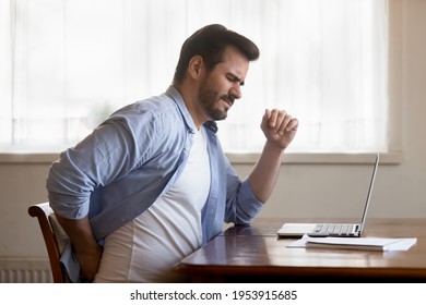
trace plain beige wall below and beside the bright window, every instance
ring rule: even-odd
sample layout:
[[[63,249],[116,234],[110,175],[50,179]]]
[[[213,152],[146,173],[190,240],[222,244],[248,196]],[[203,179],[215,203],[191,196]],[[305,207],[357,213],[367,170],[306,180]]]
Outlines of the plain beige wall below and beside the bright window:
[[[395,0],[399,1],[399,0]],[[401,0],[403,161],[379,168],[371,217],[426,217],[426,1]],[[392,35],[392,33],[391,33]],[[23,157],[23,159],[25,159]],[[0,163],[0,259],[46,255],[29,204],[46,200],[50,161]],[[241,175],[251,166],[237,164]],[[260,217],[357,217],[371,164],[284,164],[277,187]]]

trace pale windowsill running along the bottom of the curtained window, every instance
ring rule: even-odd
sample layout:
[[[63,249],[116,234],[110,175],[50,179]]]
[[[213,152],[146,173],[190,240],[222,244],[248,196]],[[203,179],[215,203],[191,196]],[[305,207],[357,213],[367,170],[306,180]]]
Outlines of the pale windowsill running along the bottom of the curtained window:
[[[340,154],[340,152],[287,152],[284,155],[283,163],[291,164],[357,164],[374,163],[374,152],[362,154]],[[259,158],[258,152],[228,152],[226,154],[233,164],[253,164]],[[59,152],[37,152],[37,154],[1,154],[0,163],[38,163],[50,164],[59,158]],[[403,161],[403,154],[382,152],[380,163],[399,164]]]

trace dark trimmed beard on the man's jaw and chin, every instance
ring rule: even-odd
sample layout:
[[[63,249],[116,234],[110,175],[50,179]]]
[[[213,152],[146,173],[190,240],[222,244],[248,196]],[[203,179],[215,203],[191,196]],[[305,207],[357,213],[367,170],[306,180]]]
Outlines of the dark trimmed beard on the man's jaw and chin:
[[[204,111],[204,113],[213,121],[225,120],[228,115],[226,110],[222,110],[217,105],[221,100],[225,100],[234,103],[234,98],[228,95],[220,95],[217,91],[203,89],[200,90],[200,105]]]

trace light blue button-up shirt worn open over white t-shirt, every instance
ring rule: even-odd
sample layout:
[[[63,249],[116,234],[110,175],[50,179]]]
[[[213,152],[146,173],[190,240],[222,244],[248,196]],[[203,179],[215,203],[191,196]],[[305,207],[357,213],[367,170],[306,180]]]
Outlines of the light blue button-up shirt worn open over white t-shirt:
[[[248,180],[238,178],[223,154],[215,123],[204,126],[211,187],[202,209],[203,244],[222,232],[224,222],[250,223],[262,207]],[[196,130],[173,86],[118,110],[52,163],[46,183],[51,208],[69,219],[88,215],[93,234],[102,242],[174,185]],[[67,269],[71,278],[78,276],[75,267]]]

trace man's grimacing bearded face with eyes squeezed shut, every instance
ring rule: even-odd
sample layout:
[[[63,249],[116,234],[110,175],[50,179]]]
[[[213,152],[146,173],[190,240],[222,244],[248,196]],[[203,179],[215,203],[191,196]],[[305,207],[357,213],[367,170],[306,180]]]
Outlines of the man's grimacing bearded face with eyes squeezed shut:
[[[226,119],[234,100],[241,97],[248,69],[245,56],[234,47],[225,49],[223,62],[206,74],[200,86],[199,101],[206,120]]]

